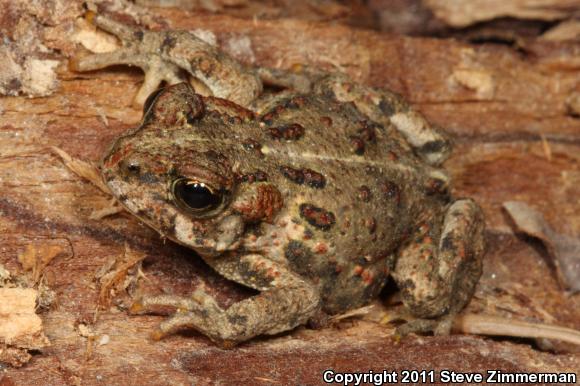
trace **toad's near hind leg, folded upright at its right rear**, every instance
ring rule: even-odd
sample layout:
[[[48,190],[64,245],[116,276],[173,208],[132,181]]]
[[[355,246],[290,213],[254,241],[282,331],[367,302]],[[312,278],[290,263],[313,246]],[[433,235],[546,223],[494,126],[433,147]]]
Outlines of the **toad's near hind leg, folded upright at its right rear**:
[[[445,212],[440,233],[436,224],[419,226],[413,242],[401,250],[393,273],[403,302],[414,315],[435,318],[447,314],[452,318],[469,302],[482,271],[484,225],[479,206],[462,199]],[[435,245],[432,240],[437,234]],[[450,317],[442,318],[446,328],[439,332],[448,332]],[[417,321],[411,329],[437,324],[429,323]]]

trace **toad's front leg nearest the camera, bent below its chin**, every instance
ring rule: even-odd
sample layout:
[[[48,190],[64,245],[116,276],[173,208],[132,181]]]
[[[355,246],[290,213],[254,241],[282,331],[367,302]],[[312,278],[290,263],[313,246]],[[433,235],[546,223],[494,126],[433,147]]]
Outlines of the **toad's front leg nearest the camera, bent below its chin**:
[[[154,338],[193,328],[224,347],[232,347],[258,335],[272,335],[304,324],[320,308],[318,290],[311,283],[261,255],[205,260],[226,278],[261,293],[228,309],[222,309],[201,290],[191,298],[143,298],[133,305],[134,313],[154,312],[166,306],[177,309],[159,326]]]

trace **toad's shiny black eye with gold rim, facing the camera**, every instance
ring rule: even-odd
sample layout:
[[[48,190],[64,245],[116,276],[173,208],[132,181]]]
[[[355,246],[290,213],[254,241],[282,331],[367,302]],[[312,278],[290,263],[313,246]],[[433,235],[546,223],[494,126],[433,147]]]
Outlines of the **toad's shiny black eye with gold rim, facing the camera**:
[[[216,192],[203,182],[189,178],[178,178],[171,185],[175,203],[193,214],[206,214],[216,209],[223,201],[223,193]]]

